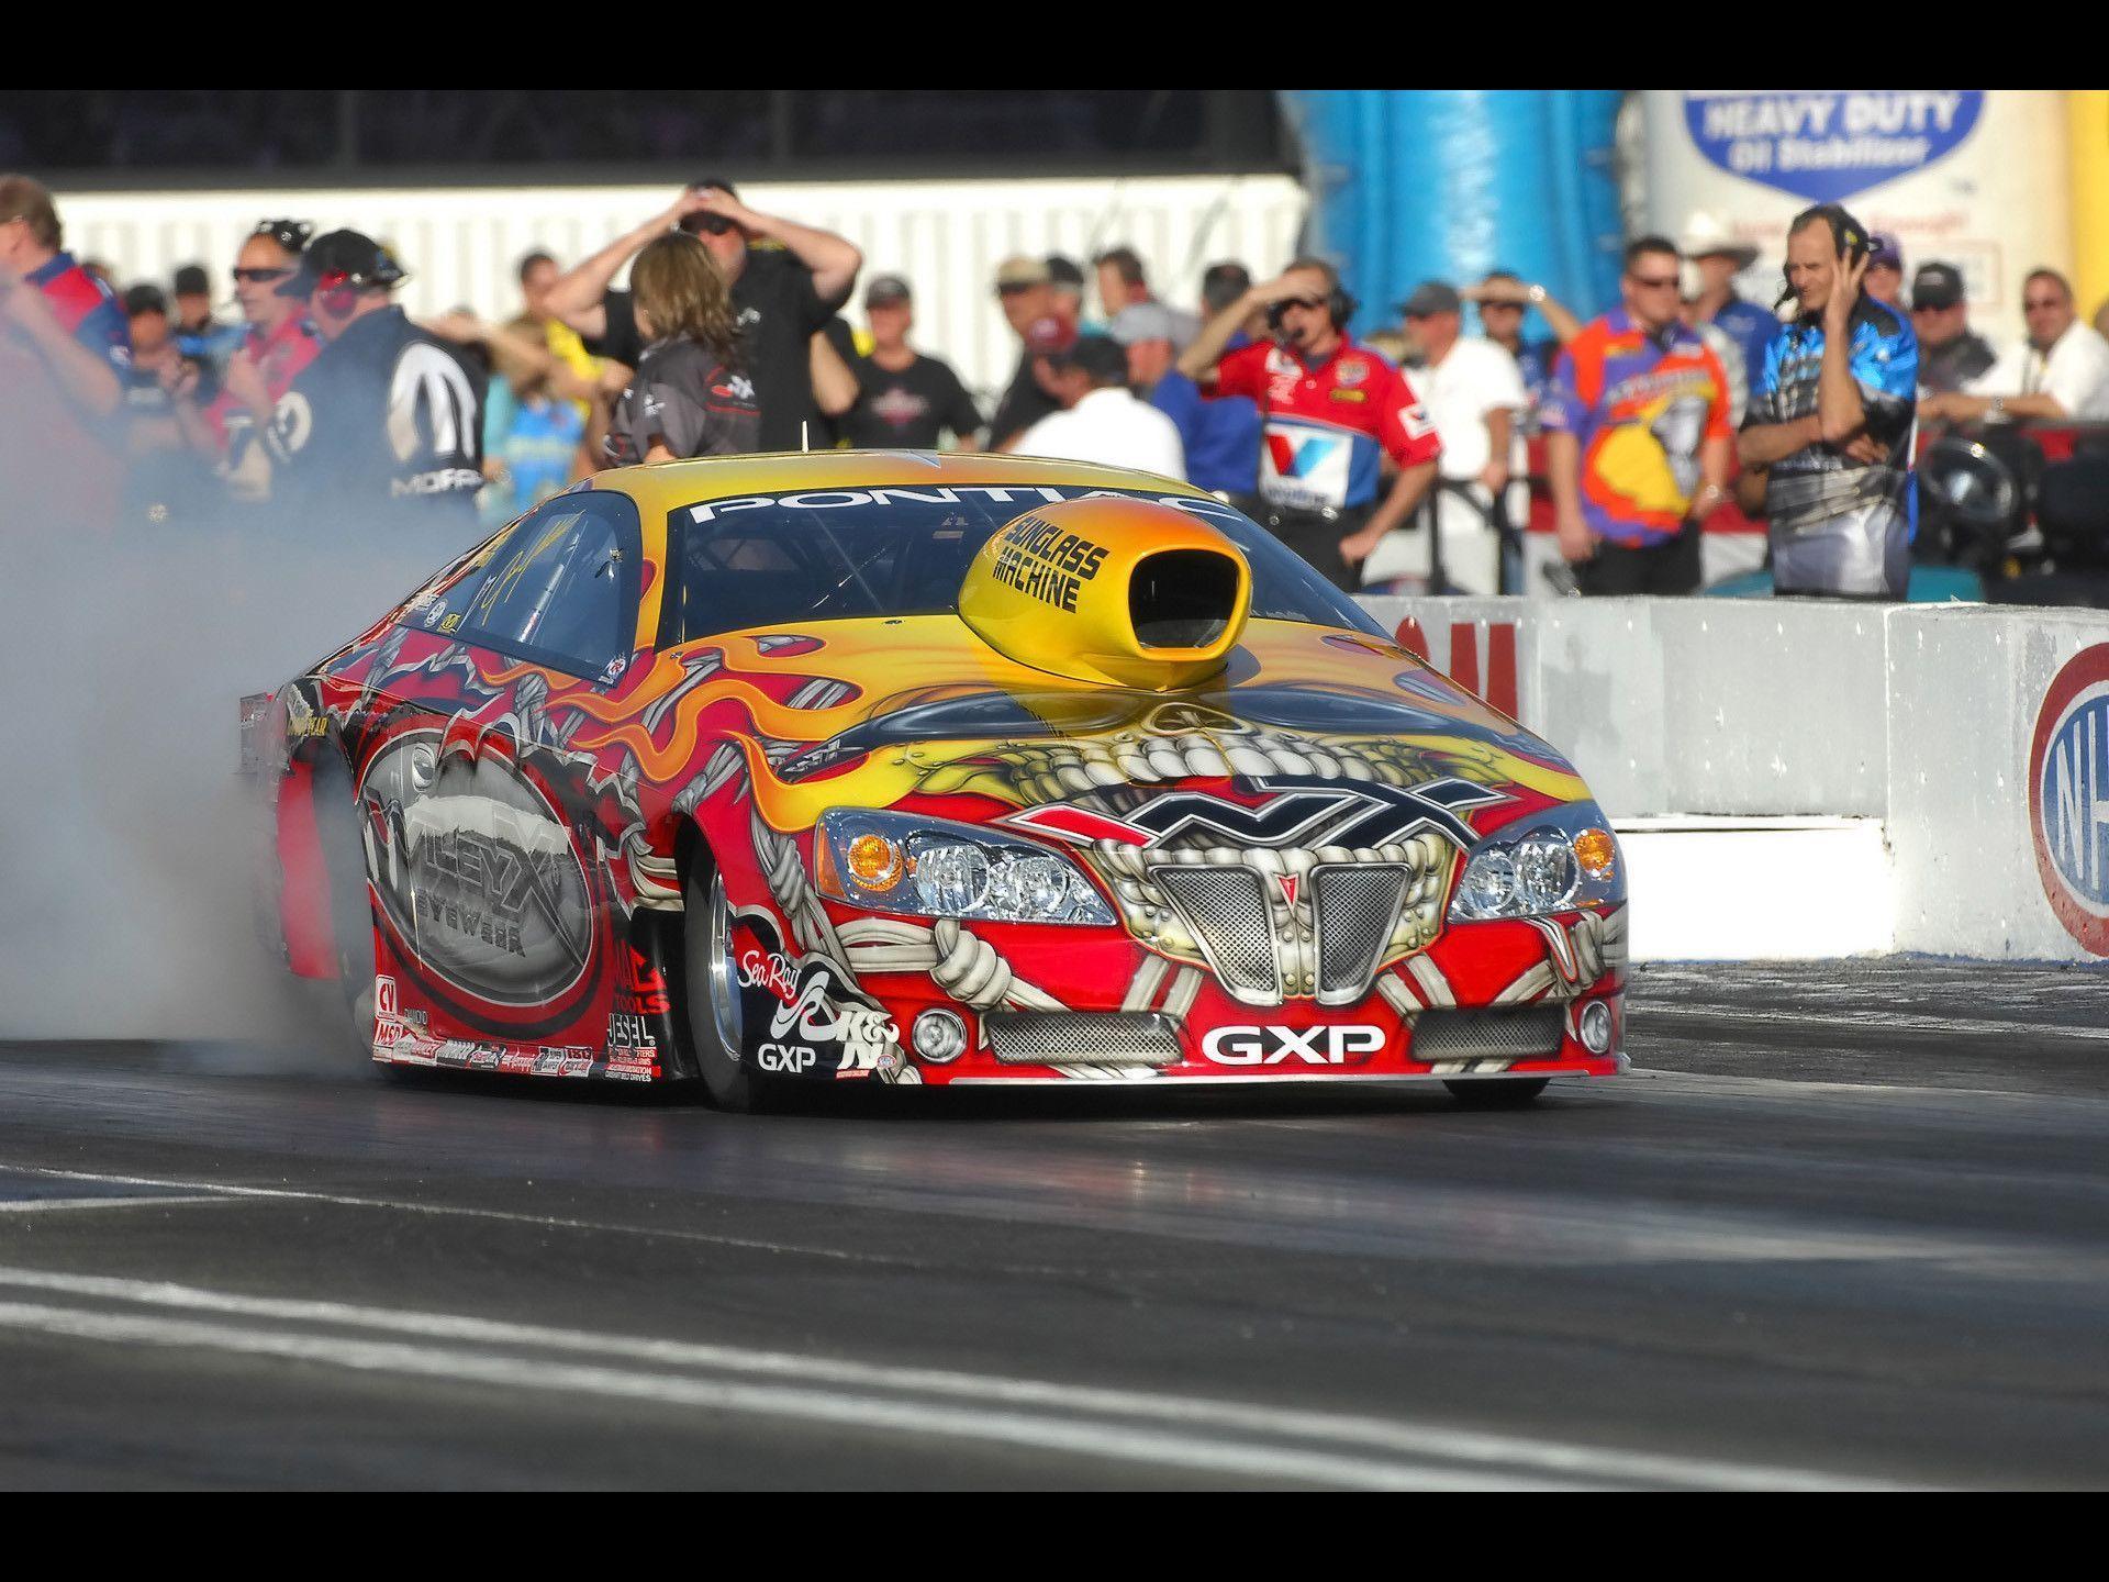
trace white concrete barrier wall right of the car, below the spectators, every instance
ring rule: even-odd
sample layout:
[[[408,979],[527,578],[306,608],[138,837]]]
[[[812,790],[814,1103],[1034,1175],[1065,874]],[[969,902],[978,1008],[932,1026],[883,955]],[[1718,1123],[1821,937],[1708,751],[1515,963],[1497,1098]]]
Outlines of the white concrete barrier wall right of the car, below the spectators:
[[[1615,821],[1879,818],[1896,949],[2109,958],[2109,705],[2092,721],[2071,713],[2109,698],[2109,612],[1362,603],[1567,753]],[[2048,745],[2031,766],[2039,719]],[[1814,913],[1843,905],[1835,886],[1864,884],[1858,867],[1826,871],[1807,842],[1778,850],[1812,856],[1753,875],[1759,905]]]

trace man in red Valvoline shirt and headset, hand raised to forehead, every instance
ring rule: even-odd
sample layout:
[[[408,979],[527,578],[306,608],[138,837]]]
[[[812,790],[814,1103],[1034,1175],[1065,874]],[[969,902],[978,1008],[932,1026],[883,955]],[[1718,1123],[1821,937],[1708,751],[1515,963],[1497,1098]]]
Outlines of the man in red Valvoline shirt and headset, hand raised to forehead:
[[[1272,340],[1225,354],[1255,312]],[[1352,314],[1333,266],[1299,257],[1217,312],[1179,354],[1179,371],[1202,394],[1259,403],[1259,519],[1350,591],[1362,584],[1369,553],[1409,523],[1443,454],[1407,375],[1348,337]],[[1381,500],[1379,454],[1398,466]]]

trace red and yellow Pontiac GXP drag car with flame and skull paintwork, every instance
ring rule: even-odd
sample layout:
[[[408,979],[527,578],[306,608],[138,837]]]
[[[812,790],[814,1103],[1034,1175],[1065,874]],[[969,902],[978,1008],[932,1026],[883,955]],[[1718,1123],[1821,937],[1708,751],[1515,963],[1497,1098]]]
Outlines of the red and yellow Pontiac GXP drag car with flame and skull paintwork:
[[[1611,1076],[1573,768],[1215,496],[635,466],[247,709],[262,905],[375,1061],[799,1082]]]

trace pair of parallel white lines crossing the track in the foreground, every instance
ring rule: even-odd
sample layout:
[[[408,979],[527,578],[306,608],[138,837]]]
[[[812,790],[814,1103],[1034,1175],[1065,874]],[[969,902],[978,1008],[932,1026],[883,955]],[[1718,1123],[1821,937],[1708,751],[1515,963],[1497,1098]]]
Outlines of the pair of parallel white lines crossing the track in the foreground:
[[[1799,1468],[1649,1455],[1386,1417],[951,1369],[884,1367],[833,1356],[601,1335],[342,1301],[249,1297],[158,1280],[0,1266],[0,1287],[129,1304],[135,1310],[0,1301],[0,1327],[78,1339],[200,1346],[504,1388],[664,1401],[1270,1481],[1384,1489],[1618,1483],[1702,1489],[1879,1487],[1862,1479]],[[139,1308],[150,1312],[137,1312]],[[169,1316],[171,1312],[209,1316]],[[323,1333],[316,1333],[318,1329]],[[344,1329],[413,1339],[329,1333]],[[475,1350],[432,1342],[466,1342]],[[622,1358],[650,1365],[650,1371],[559,1363],[550,1361],[548,1352]],[[698,1373],[721,1377],[698,1377]]]

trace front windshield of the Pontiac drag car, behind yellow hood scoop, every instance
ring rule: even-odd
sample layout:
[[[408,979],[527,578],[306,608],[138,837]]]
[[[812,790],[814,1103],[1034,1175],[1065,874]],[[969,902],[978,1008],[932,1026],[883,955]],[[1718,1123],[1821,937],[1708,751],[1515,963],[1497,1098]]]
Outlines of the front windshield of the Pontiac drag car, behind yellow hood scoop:
[[[915,485],[755,494],[683,506],[669,519],[673,599],[666,639],[749,626],[960,610],[960,580],[983,542],[1042,502],[1118,496],[1189,510],[1253,567],[1253,614],[1384,637],[1346,593],[1221,500],[1152,489]]]

